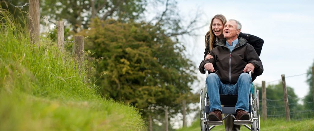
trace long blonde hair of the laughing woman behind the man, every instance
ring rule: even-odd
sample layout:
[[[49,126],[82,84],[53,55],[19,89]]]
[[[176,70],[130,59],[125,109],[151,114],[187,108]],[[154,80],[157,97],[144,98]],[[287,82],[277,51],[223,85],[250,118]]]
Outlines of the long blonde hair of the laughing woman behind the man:
[[[223,26],[225,26],[225,23],[227,22],[227,19],[225,18],[224,15],[222,14],[217,14],[215,15],[213,18],[212,18],[212,21],[210,22],[210,25],[209,25],[209,30],[208,32],[206,33],[205,35],[205,48],[207,46],[209,46],[209,50],[208,50],[208,53],[213,49],[214,47],[214,41],[216,39],[216,35],[214,34],[214,31],[212,30],[212,26],[213,26],[213,20],[217,18],[217,19],[220,19]],[[208,54],[207,53],[207,54]]]

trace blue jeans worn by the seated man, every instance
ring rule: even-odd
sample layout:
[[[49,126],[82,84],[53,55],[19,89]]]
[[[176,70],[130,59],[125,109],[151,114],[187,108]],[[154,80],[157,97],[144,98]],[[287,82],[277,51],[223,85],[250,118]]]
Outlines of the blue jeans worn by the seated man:
[[[236,110],[242,109],[249,111],[249,95],[251,91],[252,78],[248,73],[241,73],[236,84],[223,84],[218,75],[215,73],[208,74],[206,78],[206,88],[209,98],[210,112],[214,110],[222,110],[219,94],[238,95]]]

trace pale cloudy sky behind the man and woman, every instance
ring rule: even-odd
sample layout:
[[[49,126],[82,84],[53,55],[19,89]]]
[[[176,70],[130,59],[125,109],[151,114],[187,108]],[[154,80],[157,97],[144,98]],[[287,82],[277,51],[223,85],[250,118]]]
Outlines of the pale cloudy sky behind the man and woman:
[[[284,74],[287,77],[287,86],[294,88],[299,98],[309,91],[304,73],[314,62],[314,43],[311,42],[314,38],[313,6],[314,2],[310,0],[178,0],[177,5],[182,19],[192,19],[198,12],[201,13],[202,24],[207,24],[198,31],[198,36],[185,40],[187,55],[196,67],[203,60],[204,36],[211,18],[216,14],[223,14],[227,20],[238,20],[242,24],[242,33],[264,40],[260,55],[264,72],[253,84],[261,85],[262,81],[266,82],[266,86],[278,84]],[[198,70],[196,72],[198,78],[205,81],[206,76]],[[202,87],[202,84],[203,82],[194,88]]]

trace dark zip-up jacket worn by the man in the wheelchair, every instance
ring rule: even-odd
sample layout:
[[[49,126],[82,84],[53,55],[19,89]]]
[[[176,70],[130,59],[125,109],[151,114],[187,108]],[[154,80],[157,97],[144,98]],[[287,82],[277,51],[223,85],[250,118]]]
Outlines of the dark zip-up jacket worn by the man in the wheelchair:
[[[225,46],[226,38],[220,39],[210,54],[214,57],[212,59],[203,60],[199,65],[199,71],[205,73],[204,65],[212,63],[215,72],[222,83],[235,84],[243,73],[246,64],[252,63],[254,65],[254,74],[259,76],[263,73],[263,64],[257,53],[254,51],[252,45],[246,43],[246,39],[238,37],[239,43],[230,53],[230,49]]]

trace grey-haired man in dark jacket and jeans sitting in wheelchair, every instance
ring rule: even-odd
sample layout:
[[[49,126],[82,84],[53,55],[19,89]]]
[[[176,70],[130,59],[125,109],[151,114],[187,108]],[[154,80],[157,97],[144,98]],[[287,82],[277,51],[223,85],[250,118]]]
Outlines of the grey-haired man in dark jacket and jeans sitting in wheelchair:
[[[249,120],[249,94],[252,78],[248,74],[263,73],[263,65],[254,48],[246,43],[246,39],[238,37],[241,23],[230,19],[223,29],[224,39],[220,39],[210,54],[211,59],[203,60],[199,66],[210,72],[206,78],[209,97],[209,120],[222,121],[219,94],[238,95],[236,103],[236,119]]]

